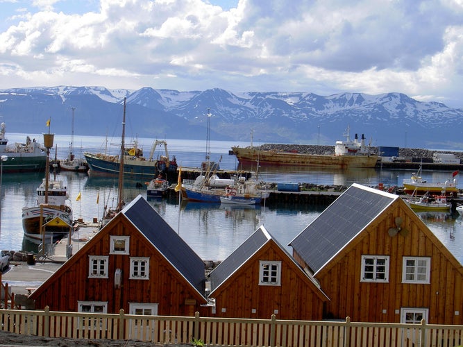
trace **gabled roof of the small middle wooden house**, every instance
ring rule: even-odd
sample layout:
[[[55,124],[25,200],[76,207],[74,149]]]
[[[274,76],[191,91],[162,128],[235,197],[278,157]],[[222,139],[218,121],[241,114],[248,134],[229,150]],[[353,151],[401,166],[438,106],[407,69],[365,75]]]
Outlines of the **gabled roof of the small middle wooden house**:
[[[326,294],[321,291],[318,283],[308,273],[302,269],[302,267],[294,260],[292,255],[283,247],[270,233],[260,226],[258,230],[255,230],[251,236],[249,236],[233,253],[231,253],[226,259],[221,262],[214,270],[209,274],[210,277],[210,295],[214,293],[214,290],[219,288],[221,285],[230,278],[233,273],[238,271],[242,266],[247,266],[246,262],[255,255],[263,246],[267,243],[273,242],[280,248],[280,250],[287,256],[287,260],[292,262],[294,266],[301,271],[301,274],[305,276],[312,284],[317,287],[317,294],[323,299],[328,299]]]

